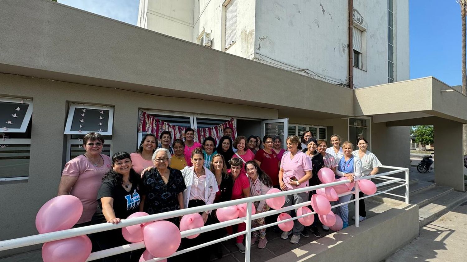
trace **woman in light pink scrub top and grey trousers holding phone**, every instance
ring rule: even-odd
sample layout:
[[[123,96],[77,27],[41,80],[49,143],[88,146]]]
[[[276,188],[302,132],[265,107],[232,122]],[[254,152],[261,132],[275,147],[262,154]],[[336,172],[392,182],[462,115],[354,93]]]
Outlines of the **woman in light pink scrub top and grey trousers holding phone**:
[[[311,178],[312,166],[310,157],[298,150],[300,140],[298,140],[297,136],[289,136],[286,139],[286,143],[289,151],[282,157],[281,169],[279,170],[279,185],[283,191],[306,188],[309,186],[308,180]],[[285,196],[284,207],[306,201],[308,201],[308,192],[287,195]],[[295,212],[297,212],[297,210],[295,210]],[[284,231],[281,238],[287,239],[289,235],[293,234],[290,243],[298,244],[303,229],[304,226],[298,222],[298,220],[294,220],[293,230],[288,232]]]

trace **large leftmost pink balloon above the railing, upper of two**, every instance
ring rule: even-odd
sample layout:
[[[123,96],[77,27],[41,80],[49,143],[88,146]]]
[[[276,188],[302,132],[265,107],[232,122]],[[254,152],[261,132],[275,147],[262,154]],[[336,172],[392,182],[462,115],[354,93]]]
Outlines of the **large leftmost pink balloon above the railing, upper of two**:
[[[59,195],[47,201],[35,216],[40,234],[72,228],[83,214],[83,204],[74,195]]]

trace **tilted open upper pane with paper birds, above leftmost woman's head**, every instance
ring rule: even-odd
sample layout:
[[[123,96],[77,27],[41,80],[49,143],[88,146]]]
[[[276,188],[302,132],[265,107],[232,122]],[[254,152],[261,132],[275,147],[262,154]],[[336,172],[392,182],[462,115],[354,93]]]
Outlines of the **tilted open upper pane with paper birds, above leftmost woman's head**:
[[[64,134],[112,135],[113,107],[71,104]]]

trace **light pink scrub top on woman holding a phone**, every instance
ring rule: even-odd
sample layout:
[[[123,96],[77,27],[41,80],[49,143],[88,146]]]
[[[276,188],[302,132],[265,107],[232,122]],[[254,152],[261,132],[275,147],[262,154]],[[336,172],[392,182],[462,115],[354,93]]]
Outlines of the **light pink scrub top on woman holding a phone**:
[[[283,182],[288,190],[308,187],[308,181],[301,183],[298,187],[292,186],[289,183],[290,177],[295,175],[297,180],[300,180],[304,177],[305,171],[311,170],[311,158],[308,155],[298,151],[297,154],[290,159],[290,151],[287,151],[282,156],[281,168],[284,169]]]

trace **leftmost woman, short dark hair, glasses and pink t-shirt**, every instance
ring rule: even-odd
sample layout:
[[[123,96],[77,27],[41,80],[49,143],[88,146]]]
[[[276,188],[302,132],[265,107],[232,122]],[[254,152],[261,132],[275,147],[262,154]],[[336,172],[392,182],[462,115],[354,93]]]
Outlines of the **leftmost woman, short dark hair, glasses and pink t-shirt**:
[[[86,153],[65,164],[57,195],[74,195],[83,203],[83,214],[76,226],[90,225],[96,212],[97,191],[102,177],[111,167],[110,157],[100,154],[104,138],[99,133],[88,133],[83,138]]]

